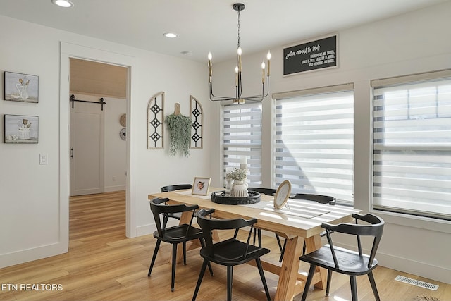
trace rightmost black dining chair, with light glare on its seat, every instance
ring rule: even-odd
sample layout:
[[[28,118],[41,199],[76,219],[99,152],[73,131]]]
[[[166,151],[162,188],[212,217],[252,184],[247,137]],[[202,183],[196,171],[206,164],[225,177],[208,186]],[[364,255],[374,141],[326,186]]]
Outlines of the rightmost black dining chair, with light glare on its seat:
[[[339,223],[338,225],[323,223],[321,226],[326,229],[328,245],[325,245],[314,252],[310,252],[309,254],[304,254],[299,258],[303,262],[308,262],[310,264],[309,276],[307,276],[307,281],[305,283],[302,301],[307,297],[316,266],[328,269],[326,296],[329,295],[332,272],[336,271],[350,276],[352,301],[358,300],[356,276],[361,275],[368,275],[374,297],[377,301],[380,300],[376,288],[376,281],[374,281],[373,269],[376,269],[376,266],[378,266],[376,252],[382,238],[384,221],[373,214],[352,214],[352,217],[355,219],[355,223]],[[363,223],[359,223],[359,221],[363,221]],[[357,236],[358,252],[333,245],[330,231]],[[360,242],[361,236],[373,237],[373,245],[369,255],[363,254],[362,252],[362,245]]]

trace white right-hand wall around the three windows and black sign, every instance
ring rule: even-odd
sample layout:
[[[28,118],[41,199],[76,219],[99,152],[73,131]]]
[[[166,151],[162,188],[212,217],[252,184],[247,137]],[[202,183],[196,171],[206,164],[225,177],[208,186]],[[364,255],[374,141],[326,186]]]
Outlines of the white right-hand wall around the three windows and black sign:
[[[370,80],[388,78],[412,73],[451,68],[451,2],[414,11],[406,15],[389,18],[361,27],[342,30],[338,33],[339,67],[317,70],[310,73],[283,76],[283,48],[271,49],[271,93],[302,90],[311,87],[355,84],[355,161],[354,161],[354,204],[363,211],[371,211],[371,87]],[[328,34],[328,32],[325,32]],[[314,38],[314,37],[312,37]],[[292,44],[300,44],[292,41]],[[245,51],[245,49],[243,49]],[[266,51],[244,56],[247,74],[245,88],[251,91],[243,94],[258,94],[261,70],[259,62]],[[214,64],[215,84],[229,81],[233,87],[235,62]],[[232,66],[232,67],[230,67]],[[252,66],[255,66],[252,70]],[[251,73],[254,72],[254,73]],[[226,75],[227,73],[227,75]],[[222,78],[220,78],[222,77]],[[254,85],[249,82],[255,80]],[[218,87],[221,90],[221,87]],[[226,87],[220,91],[226,93]],[[252,91],[254,90],[254,91]],[[218,94],[221,94],[218,93]],[[230,93],[229,93],[230,94]],[[271,97],[264,100],[263,122],[263,185],[271,186]],[[220,130],[214,120],[220,118],[220,107],[214,106],[212,125],[211,174],[212,183],[220,185],[221,149]],[[215,163],[216,162],[216,163]],[[421,219],[402,214],[376,214],[385,219],[386,226],[378,252],[381,265],[392,269],[450,283],[451,281],[451,223],[433,219]],[[348,242],[341,241],[343,245]]]

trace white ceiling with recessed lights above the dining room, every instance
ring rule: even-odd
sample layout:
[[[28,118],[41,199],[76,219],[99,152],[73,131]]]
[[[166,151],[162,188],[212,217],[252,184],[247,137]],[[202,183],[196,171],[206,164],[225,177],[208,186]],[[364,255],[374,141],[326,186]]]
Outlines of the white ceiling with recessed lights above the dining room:
[[[51,0],[1,0],[0,15],[196,61],[206,61],[209,51],[215,61],[236,55],[233,0],[71,1],[73,8]],[[242,0],[240,45],[243,54],[266,51],[445,1]]]

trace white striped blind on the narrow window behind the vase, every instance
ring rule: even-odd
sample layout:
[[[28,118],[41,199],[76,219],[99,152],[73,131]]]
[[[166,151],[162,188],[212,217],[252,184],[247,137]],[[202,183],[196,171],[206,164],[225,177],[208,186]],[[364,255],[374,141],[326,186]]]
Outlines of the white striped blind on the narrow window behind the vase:
[[[223,175],[246,158],[247,182],[261,184],[261,102],[223,106]],[[226,181],[224,180],[224,183]]]

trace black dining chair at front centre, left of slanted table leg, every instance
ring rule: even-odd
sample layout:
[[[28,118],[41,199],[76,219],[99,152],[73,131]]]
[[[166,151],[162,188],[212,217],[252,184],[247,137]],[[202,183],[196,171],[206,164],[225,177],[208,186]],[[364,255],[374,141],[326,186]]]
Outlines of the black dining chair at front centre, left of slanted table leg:
[[[247,221],[245,219],[211,219],[212,213],[214,213],[214,209],[200,209],[197,211],[197,223],[199,223],[199,226],[205,233],[206,247],[202,247],[202,250],[200,250],[200,255],[204,258],[204,263],[202,264],[202,269],[199,274],[199,279],[197,280],[192,301],[196,300],[197,293],[199,293],[199,287],[202,283],[202,278],[204,278],[206,266],[210,264],[210,262],[227,266],[227,300],[230,301],[232,300],[233,266],[245,264],[246,262],[252,260],[255,260],[257,268],[259,269],[261,282],[263,283],[266,293],[266,299],[271,300],[260,260],[260,257],[264,254],[268,254],[270,250],[263,247],[249,245],[249,240],[252,235],[252,228],[254,227],[254,223],[257,223],[257,219],[249,219]],[[207,217],[209,214],[210,218]],[[250,227],[249,234],[247,235],[247,242],[237,240],[235,234],[240,230],[240,228],[244,227]],[[222,230],[235,230],[235,233],[233,237],[213,243],[211,231],[214,230],[220,230],[221,234],[224,235],[226,235],[226,233],[222,233]]]

